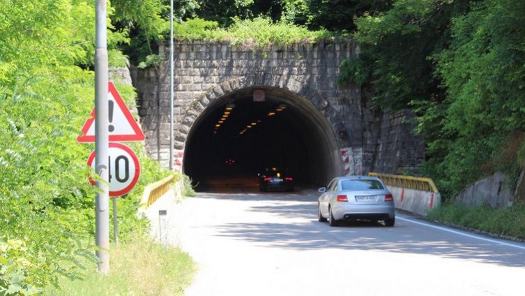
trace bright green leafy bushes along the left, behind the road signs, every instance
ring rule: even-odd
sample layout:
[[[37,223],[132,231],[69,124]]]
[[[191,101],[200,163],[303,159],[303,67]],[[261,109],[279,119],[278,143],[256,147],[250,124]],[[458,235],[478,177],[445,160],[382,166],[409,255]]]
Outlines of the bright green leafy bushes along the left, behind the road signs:
[[[76,142],[93,108],[93,1],[0,3],[0,295],[34,295],[95,266],[94,196],[86,160],[94,145]],[[72,26],[71,24],[75,24]],[[109,31],[109,63],[122,64]],[[134,105],[130,87],[117,85]],[[119,198],[119,237],[146,235],[137,216],[142,188],[165,177],[142,144],[142,174]]]

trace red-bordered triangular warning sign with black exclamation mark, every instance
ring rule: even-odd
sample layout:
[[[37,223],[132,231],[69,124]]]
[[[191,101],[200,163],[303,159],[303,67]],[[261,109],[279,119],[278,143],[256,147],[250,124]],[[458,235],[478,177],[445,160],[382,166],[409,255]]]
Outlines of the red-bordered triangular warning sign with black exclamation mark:
[[[107,96],[108,103],[108,131],[109,142],[132,142],[143,141],[144,133],[142,133],[139,124],[133,118],[128,106],[116,90],[112,82],[109,82],[109,94]],[[91,118],[86,121],[82,127],[82,134],[77,137],[77,142],[91,143],[95,142],[95,108],[91,111]]]

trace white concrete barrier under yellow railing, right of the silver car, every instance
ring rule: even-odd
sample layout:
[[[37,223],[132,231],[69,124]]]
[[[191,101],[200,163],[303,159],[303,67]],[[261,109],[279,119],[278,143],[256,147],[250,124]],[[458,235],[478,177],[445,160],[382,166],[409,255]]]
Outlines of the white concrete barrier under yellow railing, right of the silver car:
[[[386,188],[394,195],[396,209],[427,216],[430,209],[441,205],[441,193],[388,185]]]

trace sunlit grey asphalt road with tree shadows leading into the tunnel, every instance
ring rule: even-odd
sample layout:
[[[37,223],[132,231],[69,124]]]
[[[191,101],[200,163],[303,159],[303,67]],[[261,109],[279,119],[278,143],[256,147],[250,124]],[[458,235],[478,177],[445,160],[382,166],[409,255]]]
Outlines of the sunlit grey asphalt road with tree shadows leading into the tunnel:
[[[397,213],[396,225],[317,221],[317,193],[216,182],[161,220],[199,272],[187,296],[525,295],[525,244]],[[167,219],[167,220],[166,220]]]

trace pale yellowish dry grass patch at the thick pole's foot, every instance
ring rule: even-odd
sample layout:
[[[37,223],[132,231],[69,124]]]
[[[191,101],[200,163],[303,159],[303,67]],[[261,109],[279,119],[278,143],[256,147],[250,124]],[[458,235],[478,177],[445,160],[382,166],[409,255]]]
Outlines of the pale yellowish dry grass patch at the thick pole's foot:
[[[46,295],[183,295],[192,281],[195,263],[187,253],[172,246],[162,246],[144,237],[112,245],[109,269],[102,276],[90,266],[83,279],[62,278],[60,289],[49,287]],[[89,262],[84,262],[89,265]]]

